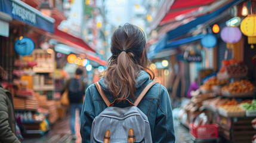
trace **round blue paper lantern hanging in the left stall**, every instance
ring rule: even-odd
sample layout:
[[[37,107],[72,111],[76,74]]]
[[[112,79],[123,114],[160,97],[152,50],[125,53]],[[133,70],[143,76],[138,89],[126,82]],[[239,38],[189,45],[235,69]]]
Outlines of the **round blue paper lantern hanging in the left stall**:
[[[35,49],[32,39],[21,36],[15,43],[14,49],[19,55],[30,55]]]

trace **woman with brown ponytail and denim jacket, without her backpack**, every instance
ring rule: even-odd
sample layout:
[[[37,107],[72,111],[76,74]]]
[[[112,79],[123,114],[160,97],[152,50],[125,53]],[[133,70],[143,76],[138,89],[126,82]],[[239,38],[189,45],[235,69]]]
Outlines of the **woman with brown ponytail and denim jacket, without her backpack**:
[[[154,79],[153,71],[148,68],[146,38],[143,31],[132,24],[118,27],[112,35],[111,52],[112,57],[109,59],[105,76],[98,82],[99,86],[110,102],[119,98],[122,101],[127,99],[133,104],[143,89]],[[95,130],[91,132],[92,122],[107,108],[104,101],[96,85],[89,86],[85,92],[81,113],[82,142],[90,142],[91,133],[95,133]],[[127,105],[129,106],[125,102],[114,104],[121,108]],[[153,142],[175,142],[171,102],[163,85],[159,83],[153,85],[137,107],[149,120]],[[109,137],[105,135],[104,138]]]

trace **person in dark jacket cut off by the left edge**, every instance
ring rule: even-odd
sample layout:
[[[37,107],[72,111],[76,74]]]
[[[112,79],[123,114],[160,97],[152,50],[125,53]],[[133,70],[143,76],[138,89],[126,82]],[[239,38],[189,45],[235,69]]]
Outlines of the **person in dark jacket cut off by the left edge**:
[[[20,141],[16,137],[13,97],[1,85],[5,75],[4,69],[0,66],[0,143],[18,143]]]

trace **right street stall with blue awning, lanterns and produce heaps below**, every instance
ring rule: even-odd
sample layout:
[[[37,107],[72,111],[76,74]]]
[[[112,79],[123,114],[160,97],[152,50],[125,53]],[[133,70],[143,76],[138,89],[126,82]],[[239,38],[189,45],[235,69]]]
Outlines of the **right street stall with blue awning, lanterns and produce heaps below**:
[[[159,44],[150,47],[149,57],[154,59],[162,51],[177,49],[178,82],[171,87],[170,97],[174,103],[177,91],[181,91],[180,97],[186,97],[179,99],[180,105],[172,103],[172,107],[174,119],[189,130],[193,141],[252,142],[256,134],[252,126],[256,117],[256,53],[255,35],[251,33],[255,29],[255,2],[207,2],[211,12],[203,14],[196,7],[176,10],[186,4],[174,1],[162,21],[152,25],[159,22]],[[251,10],[249,15],[246,8]],[[181,16],[186,22],[178,20]],[[188,83],[183,88],[178,74]],[[198,88],[190,83],[196,83]]]

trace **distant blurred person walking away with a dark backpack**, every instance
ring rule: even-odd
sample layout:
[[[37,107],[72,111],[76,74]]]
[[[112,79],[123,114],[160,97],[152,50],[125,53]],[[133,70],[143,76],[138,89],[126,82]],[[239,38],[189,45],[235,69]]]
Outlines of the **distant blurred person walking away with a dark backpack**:
[[[73,139],[76,139],[75,132],[75,119],[76,119],[76,109],[79,110],[79,116],[81,115],[82,102],[84,101],[86,83],[82,78],[83,70],[78,68],[75,71],[75,76],[67,80],[64,83],[63,89],[61,90],[61,95],[66,89],[69,90],[69,111],[70,111],[70,129],[72,131]]]

